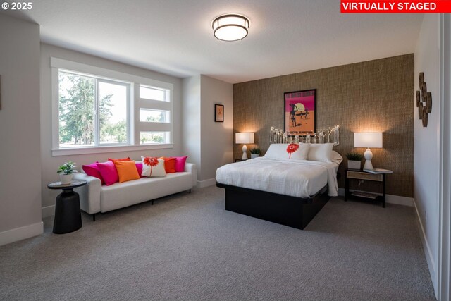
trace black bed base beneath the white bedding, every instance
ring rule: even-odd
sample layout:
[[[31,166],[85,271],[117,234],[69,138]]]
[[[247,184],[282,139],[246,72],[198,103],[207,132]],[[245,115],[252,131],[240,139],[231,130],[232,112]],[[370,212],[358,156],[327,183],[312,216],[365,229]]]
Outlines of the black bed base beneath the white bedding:
[[[303,199],[216,183],[226,189],[226,210],[303,230],[328,202],[327,185]]]

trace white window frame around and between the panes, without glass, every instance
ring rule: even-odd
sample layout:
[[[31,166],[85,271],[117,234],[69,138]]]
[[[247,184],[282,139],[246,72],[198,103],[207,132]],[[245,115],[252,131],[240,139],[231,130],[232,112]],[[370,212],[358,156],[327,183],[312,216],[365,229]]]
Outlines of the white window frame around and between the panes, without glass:
[[[52,156],[68,156],[77,154],[97,154],[108,152],[129,152],[134,150],[145,149],[171,149],[173,148],[173,84],[169,82],[161,82],[150,78],[143,78],[137,75],[121,73],[115,70],[99,68],[96,66],[86,65],[84,63],[76,63],[64,59],[50,58],[51,66],[51,135],[52,135]],[[91,75],[94,78],[104,78],[105,80],[117,80],[119,82],[130,82],[130,133],[129,145],[101,145],[89,147],[60,148],[59,147],[59,70],[66,70],[71,73],[82,73]],[[166,90],[168,101],[152,101],[149,99],[140,99],[140,85],[155,87],[157,89]],[[166,106],[153,105],[154,102],[165,103]],[[140,108],[143,109],[165,109],[170,111],[170,123],[149,123],[140,122]],[[166,125],[161,127],[159,124]],[[165,144],[145,144],[140,145],[140,132],[144,131],[169,131],[171,133],[171,142]]]

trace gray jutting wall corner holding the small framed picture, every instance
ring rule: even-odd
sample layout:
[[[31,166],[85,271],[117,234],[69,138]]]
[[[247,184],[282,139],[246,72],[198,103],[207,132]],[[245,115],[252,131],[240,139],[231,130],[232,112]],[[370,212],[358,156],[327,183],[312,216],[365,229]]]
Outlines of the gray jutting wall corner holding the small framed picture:
[[[214,105],[224,105],[224,122]],[[216,169],[233,162],[233,85],[192,76],[183,80],[183,150],[197,164],[199,187],[216,183]]]

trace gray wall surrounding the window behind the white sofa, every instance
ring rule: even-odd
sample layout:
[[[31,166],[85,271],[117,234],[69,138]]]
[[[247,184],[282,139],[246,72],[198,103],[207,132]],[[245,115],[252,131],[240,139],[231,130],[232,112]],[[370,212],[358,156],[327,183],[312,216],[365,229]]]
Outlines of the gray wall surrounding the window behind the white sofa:
[[[122,73],[151,78],[170,82],[174,85],[173,90],[173,148],[154,149],[130,152],[111,152],[103,154],[82,154],[70,156],[51,156],[51,68],[50,57],[66,59],[77,63],[85,63],[90,66],[116,70]],[[77,169],[80,170],[83,164],[90,164],[94,161],[106,161],[110,158],[123,158],[130,156],[133,160],[140,160],[141,156],[180,156],[182,155],[182,80],[170,75],[156,73],[150,70],[125,65],[97,56],[82,54],[77,51],[55,47],[49,44],[41,44],[41,149],[42,149],[42,207],[44,215],[51,215],[58,191],[47,189],[47,183],[58,180],[56,170],[64,161],[74,161]],[[189,161],[189,160],[188,160]],[[47,214],[45,214],[47,213]]]

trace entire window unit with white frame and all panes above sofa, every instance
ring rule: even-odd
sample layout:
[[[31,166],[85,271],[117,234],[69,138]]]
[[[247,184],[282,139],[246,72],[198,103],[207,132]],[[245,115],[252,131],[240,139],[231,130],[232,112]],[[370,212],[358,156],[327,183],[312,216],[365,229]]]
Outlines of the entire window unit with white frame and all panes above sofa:
[[[56,58],[51,70],[54,156],[172,147],[171,83]]]

